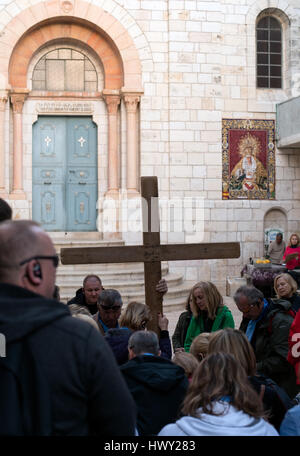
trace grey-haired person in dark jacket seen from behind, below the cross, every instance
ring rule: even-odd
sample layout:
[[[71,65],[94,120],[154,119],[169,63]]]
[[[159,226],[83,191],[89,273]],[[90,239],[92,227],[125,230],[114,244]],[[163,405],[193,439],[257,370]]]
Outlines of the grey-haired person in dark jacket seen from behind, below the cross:
[[[174,422],[188,387],[182,367],[161,358],[157,335],[135,331],[128,342],[129,359],[121,372],[138,408],[139,435],[156,435]]]

